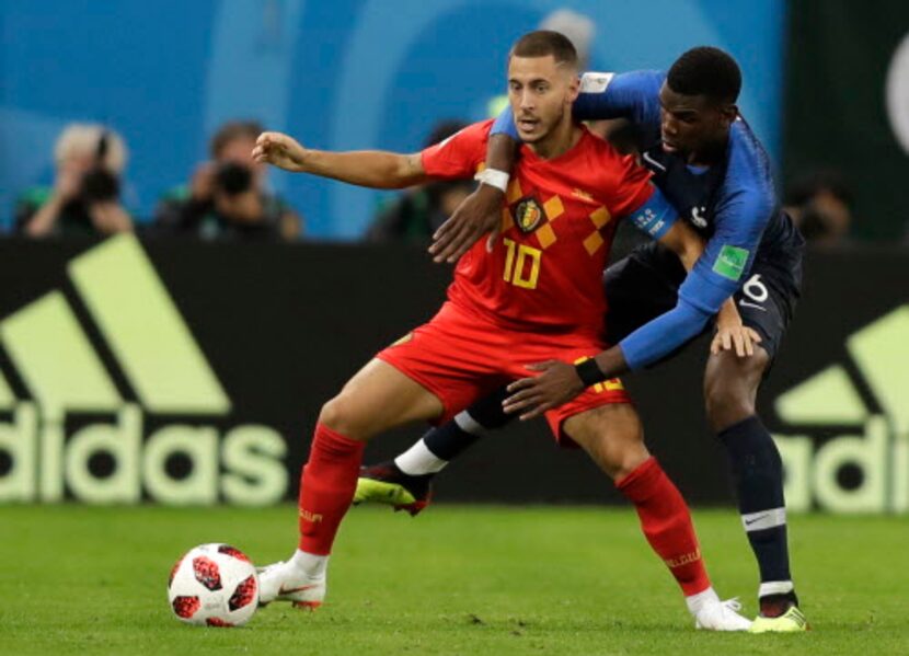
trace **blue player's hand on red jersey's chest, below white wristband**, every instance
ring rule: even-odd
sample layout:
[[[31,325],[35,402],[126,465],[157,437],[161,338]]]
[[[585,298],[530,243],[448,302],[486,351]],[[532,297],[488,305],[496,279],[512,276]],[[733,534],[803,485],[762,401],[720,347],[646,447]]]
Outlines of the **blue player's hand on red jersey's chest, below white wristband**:
[[[481,184],[461,202],[448,220],[433,234],[429,253],[436,263],[453,263],[467,253],[476,241],[490,233],[486,250],[492,251],[498,238],[502,198],[504,193],[487,184]]]

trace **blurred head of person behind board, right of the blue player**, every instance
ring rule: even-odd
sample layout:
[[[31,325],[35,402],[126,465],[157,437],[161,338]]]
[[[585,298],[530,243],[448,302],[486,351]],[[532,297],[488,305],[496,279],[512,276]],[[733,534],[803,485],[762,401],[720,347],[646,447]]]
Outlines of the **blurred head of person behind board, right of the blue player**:
[[[838,173],[797,180],[786,194],[785,209],[807,241],[825,246],[849,242],[852,194]]]

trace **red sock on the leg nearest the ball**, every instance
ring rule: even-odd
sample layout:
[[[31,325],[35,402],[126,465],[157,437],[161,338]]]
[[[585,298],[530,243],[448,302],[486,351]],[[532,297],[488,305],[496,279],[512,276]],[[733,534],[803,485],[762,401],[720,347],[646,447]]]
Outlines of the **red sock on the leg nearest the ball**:
[[[300,550],[329,555],[337,527],[357,488],[365,442],[344,437],[322,424],[300,474]]]

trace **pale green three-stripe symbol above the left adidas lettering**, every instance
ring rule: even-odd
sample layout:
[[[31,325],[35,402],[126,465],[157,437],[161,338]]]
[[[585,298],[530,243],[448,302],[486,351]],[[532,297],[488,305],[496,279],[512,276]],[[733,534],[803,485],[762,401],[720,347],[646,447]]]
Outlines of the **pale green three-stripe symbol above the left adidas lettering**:
[[[134,237],[113,238],[80,255],[69,277],[143,408],[230,412],[230,400]],[[0,339],[46,418],[123,405],[62,292],[51,291],[0,322]],[[0,375],[0,408],[13,402]]]

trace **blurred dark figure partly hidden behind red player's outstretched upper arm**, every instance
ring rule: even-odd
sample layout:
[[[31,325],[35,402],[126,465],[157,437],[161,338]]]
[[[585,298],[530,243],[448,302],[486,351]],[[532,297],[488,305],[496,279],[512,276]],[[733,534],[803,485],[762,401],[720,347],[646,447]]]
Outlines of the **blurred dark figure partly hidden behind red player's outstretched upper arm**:
[[[437,124],[426,138],[424,147],[438,143],[464,125],[459,120]],[[433,182],[412,187],[377,215],[366,238],[369,241],[426,243],[472,191],[473,181],[469,180]]]

